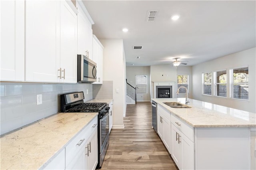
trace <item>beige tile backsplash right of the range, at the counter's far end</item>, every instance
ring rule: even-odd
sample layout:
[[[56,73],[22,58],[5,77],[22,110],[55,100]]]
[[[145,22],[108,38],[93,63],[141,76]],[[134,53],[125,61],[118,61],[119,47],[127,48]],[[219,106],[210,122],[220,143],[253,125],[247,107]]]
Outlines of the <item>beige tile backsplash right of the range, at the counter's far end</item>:
[[[92,85],[93,99],[113,99],[113,81],[103,81],[102,85]]]

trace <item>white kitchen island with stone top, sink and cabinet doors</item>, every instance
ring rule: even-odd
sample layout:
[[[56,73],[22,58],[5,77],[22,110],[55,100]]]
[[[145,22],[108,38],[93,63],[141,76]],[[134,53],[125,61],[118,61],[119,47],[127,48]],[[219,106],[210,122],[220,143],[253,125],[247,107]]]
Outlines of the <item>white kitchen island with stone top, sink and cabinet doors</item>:
[[[164,102],[184,104],[184,98],[152,100],[158,103],[158,134],[180,170],[255,169],[256,113],[193,99],[182,109]]]

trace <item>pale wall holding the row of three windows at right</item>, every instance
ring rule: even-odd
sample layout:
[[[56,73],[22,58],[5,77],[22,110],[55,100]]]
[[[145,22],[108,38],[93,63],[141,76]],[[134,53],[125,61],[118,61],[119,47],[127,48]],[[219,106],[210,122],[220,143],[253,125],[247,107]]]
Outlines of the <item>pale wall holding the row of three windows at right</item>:
[[[210,102],[226,107],[240,109],[249,112],[256,112],[256,48],[240,51],[238,53],[226,55],[211,61],[200,63],[192,67],[192,86],[193,99]],[[202,73],[207,71],[227,70],[229,77],[229,69],[233,67],[249,67],[249,101],[239,101],[221,97],[213,97],[202,95]],[[227,87],[229,90],[229,87]]]

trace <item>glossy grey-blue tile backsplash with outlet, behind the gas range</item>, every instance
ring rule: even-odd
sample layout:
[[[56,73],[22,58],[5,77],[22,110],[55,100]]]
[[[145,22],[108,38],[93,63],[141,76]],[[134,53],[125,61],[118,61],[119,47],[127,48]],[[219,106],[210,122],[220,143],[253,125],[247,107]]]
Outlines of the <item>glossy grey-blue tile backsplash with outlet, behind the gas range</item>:
[[[88,94],[86,90],[88,89]],[[92,99],[92,84],[7,83],[0,84],[0,134],[60,112],[60,95],[84,91],[84,101]],[[42,105],[36,95],[42,94]]]

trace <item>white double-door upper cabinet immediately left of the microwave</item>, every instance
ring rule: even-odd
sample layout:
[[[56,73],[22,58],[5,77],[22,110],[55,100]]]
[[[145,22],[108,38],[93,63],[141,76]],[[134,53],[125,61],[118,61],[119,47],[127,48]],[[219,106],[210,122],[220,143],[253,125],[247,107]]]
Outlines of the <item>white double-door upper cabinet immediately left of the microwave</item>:
[[[26,1],[26,81],[76,83],[76,13],[71,1]]]

